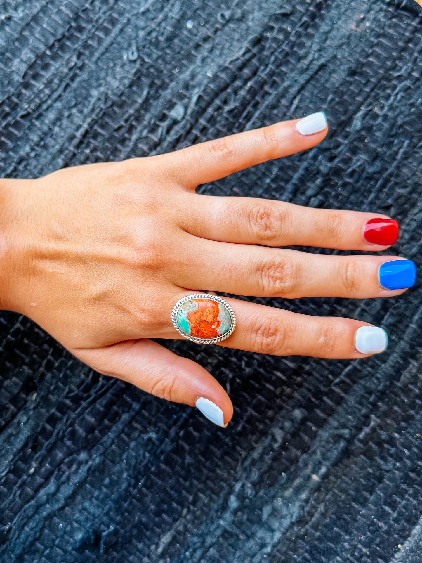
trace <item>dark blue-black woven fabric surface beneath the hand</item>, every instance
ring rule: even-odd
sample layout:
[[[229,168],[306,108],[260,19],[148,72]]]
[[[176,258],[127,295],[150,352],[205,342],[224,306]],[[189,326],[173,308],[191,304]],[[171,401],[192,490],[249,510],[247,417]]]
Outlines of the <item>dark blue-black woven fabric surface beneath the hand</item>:
[[[421,14],[413,0],[0,0],[0,175],[324,109],[321,145],[200,191],[388,213],[393,252],[419,265]],[[2,563],[420,563],[420,283],[388,300],[255,301],[369,321],[388,351],[167,342],[227,388],[222,430],[2,312]]]

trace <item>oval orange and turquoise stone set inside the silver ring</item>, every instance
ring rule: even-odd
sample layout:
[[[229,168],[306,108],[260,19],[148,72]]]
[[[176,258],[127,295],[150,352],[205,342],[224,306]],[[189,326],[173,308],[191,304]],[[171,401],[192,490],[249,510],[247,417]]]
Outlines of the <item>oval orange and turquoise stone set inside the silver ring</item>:
[[[218,338],[231,328],[231,315],[223,303],[199,298],[185,301],[176,315],[178,327],[195,338]]]

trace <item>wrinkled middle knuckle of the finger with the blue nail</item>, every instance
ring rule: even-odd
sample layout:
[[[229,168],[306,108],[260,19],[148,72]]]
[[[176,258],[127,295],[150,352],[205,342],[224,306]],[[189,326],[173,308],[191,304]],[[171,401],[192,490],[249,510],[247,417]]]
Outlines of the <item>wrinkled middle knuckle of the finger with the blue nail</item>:
[[[258,270],[259,286],[264,296],[286,295],[294,292],[295,267],[292,261],[276,255],[267,260]]]

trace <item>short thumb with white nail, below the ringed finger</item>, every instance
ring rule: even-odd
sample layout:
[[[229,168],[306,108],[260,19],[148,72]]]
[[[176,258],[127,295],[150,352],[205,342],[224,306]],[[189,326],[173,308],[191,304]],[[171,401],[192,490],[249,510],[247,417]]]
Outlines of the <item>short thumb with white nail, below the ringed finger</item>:
[[[226,391],[206,369],[151,340],[72,352],[97,372],[124,379],[161,399],[196,405],[218,426],[227,426],[233,415]]]

